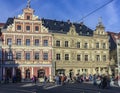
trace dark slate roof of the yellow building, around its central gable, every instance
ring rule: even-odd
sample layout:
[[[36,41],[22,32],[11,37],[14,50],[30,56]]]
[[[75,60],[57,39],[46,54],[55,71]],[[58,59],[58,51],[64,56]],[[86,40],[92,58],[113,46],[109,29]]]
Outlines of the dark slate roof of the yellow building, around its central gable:
[[[64,33],[66,34],[72,23],[70,21],[56,21],[51,19],[42,19],[43,25],[49,29],[52,33]],[[73,23],[76,28],[76,32],[79,35],[93,36],[93,30],[85,26],[83,23]]]

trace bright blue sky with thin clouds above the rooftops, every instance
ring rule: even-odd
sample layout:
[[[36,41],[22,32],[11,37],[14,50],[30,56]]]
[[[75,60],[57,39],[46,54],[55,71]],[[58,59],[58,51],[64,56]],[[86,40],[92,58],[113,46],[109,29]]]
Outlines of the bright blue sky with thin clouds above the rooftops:
[[[109,4],[101,7],[109,1]],[[0,23],[22,14],[26,5],[27,0],[0,0]],[[106,31],[120,32],[120,0],[31,0],[31,8],[39,18],[84,22],[93,30],[99,18],[102,18]],[[87,16],[88,14],[90,15]],[[81,20],[83,17],[85,18]]]

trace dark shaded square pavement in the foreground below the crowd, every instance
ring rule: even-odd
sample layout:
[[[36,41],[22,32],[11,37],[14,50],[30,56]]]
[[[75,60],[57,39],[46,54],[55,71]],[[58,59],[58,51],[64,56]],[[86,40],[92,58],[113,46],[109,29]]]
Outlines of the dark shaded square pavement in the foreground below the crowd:
[[[10,83],[0,85],[0,93],[120,93],[120,87],[99,89],[90,83],[67,83],[63,86],[47,83]]]

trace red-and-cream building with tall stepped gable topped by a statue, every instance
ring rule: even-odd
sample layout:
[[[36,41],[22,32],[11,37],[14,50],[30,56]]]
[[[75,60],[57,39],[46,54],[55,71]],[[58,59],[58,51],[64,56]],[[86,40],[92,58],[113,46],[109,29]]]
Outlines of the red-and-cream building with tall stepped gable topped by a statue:
[[[52,75],[52,35],[29,5],[2,30],[3,78],[31,79]]]

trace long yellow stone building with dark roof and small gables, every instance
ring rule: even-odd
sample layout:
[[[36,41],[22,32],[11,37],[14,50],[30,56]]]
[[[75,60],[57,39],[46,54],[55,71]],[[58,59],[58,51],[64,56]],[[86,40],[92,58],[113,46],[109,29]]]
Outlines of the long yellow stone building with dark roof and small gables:
[[[109,38],[101,21],[95,31],[83,23],[56,20],[43,23],[53,35],[55,73],[111,74]]]

